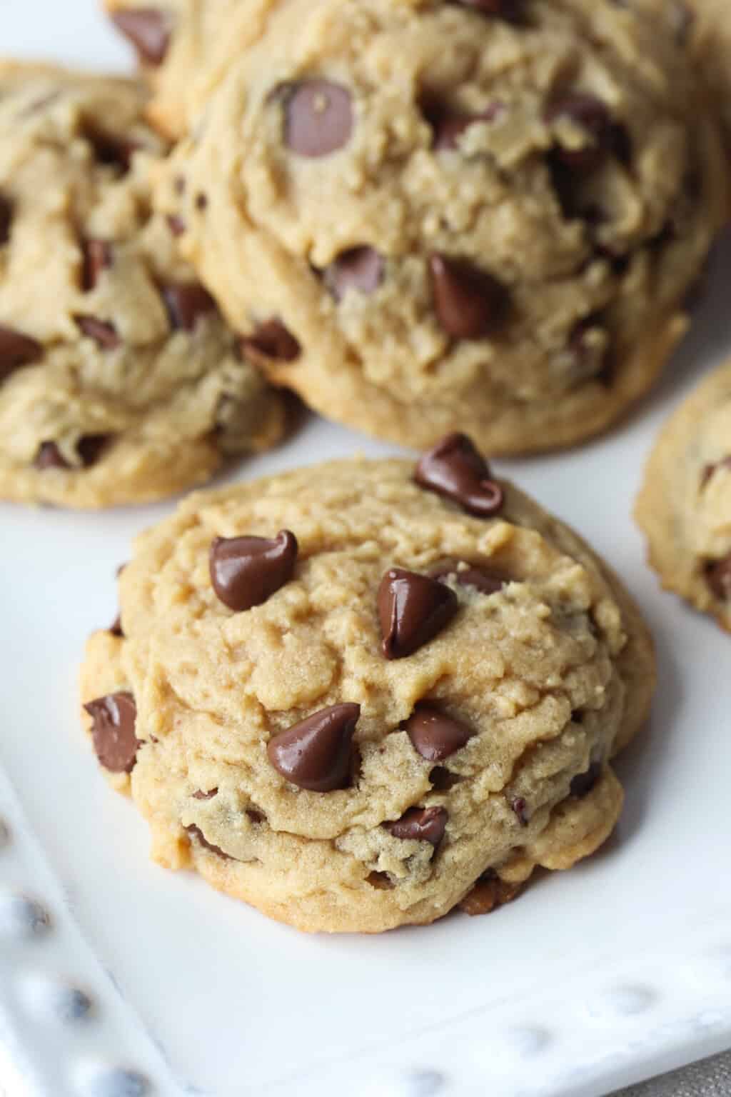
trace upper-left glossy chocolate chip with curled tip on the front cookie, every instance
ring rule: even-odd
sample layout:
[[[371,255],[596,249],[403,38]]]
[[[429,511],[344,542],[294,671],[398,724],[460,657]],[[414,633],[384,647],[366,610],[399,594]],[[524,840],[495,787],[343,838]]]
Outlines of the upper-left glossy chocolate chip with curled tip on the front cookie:
[[[210,581],[229,609],[250,610],[289,581],[296,559],[297,538],[289,530],[279,530],[274,540],[216,538],[210,545]]]

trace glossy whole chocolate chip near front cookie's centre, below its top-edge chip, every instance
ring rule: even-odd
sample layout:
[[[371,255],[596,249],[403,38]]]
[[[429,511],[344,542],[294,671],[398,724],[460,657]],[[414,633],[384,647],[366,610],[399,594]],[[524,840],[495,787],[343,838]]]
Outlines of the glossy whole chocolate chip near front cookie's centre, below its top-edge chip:
[[[391,568],[378,588],[378,620],[387,659],[402,659],[452,620],[459,602],[449,587],[427,575]]]

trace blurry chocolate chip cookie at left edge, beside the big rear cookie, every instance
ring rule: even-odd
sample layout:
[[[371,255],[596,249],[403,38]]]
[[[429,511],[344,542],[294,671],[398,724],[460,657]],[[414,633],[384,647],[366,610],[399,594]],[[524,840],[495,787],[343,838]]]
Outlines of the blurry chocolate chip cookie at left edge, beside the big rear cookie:
[[[132,82],[0,65],[0,498],[155,499],[282,432],[151,211],[144,105]]]

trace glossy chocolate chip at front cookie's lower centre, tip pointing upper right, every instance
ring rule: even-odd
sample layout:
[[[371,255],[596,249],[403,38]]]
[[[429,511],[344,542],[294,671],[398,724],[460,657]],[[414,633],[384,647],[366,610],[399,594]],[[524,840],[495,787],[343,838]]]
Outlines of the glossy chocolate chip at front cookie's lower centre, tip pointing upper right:
[[[359,704],[333,704],[313,713],[270,740],[270,762],[299,789],[331,792],[346,788],[359,715]]]

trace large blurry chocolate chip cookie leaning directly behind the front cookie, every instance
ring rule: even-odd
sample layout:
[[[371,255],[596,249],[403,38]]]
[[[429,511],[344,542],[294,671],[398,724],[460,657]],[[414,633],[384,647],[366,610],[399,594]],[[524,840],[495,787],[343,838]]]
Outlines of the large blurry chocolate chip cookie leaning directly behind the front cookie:
[[[479,7],[279,5],[159,201],[256,361],[322,414],[547,450],[656,377],[726,166],[664,21]]]

